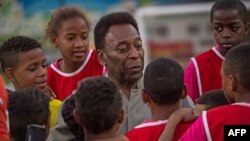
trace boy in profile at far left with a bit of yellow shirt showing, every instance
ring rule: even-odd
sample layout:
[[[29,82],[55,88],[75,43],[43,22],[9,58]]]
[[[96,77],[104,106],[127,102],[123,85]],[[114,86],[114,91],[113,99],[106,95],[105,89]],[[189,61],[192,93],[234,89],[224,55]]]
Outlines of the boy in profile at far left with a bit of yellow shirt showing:
[[[46,85],[46,59],[41,45],[25,36],[14,36],[0,48],[0,62],[7,78],[13,83],[15,91],[27,87],[36,87],[46,91],[51,97],[51,127],[55,125],[61,101],[54,99],[54,94]]]

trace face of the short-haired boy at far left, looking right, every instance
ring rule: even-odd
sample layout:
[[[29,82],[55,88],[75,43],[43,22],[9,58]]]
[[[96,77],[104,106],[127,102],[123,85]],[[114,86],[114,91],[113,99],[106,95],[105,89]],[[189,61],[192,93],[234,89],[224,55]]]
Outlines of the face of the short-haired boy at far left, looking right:
[[[16,90],[27,87],[45,89],[47,70],[45,57],[40,48],[19,55],[17,66],[12,71],[11,81]]]

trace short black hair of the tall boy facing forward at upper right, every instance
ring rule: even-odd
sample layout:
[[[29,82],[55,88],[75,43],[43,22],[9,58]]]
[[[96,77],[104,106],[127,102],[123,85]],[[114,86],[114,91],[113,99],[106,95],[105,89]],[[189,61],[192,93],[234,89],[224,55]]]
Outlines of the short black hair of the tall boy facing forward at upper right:
[[[240,0],[217,0],[212,6],[210,20],[213,21],[214,12],[217,10],[237,10],[243,23],[248,23],[248,12],[245,4]]]

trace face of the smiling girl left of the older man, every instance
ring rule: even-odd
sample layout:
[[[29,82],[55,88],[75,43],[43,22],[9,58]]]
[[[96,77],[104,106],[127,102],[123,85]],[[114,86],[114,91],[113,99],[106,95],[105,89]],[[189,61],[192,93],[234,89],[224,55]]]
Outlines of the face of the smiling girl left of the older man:
[[[65,62],[81,64],[89,49],[88,34],[87,23],[82,18],[71,18],[62,23],[52,42],[59,48]]]

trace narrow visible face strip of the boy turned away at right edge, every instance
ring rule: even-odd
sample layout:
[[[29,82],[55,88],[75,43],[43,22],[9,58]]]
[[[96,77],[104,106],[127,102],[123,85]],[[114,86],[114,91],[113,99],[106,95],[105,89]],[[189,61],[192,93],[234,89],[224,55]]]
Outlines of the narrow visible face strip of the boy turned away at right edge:
[[[234,103],[234,93],[231,91],[231,80],[230,77],[228,75],[226,75],[224,73],[224,69],[222,67],[221,70],[221,76],[222,76],[222,87],[225,93],[225,96],[227,98],[227,100],[229,101],[229,103]]]

